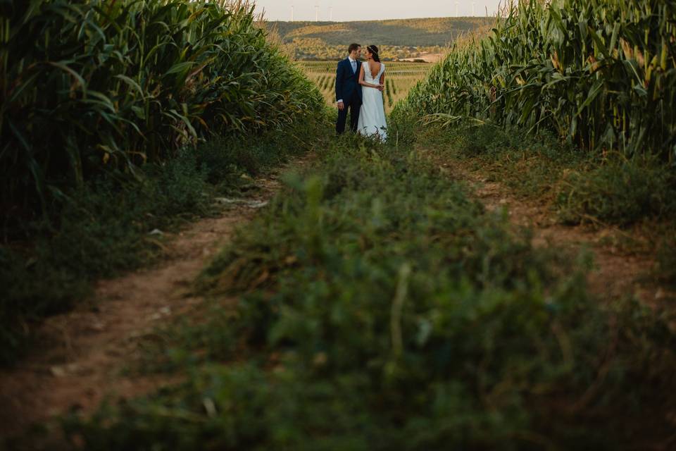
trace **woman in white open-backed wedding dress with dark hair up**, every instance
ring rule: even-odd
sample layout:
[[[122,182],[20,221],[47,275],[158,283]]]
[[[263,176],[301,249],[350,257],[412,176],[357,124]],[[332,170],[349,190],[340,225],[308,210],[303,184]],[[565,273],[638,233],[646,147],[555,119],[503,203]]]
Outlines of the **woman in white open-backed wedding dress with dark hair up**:
[[[378,48],[366,47],[366,64],[361,65],[359,84],[362,86],[363,103],[359,112],[357,131],[365,136],[377,135],[387,139],[387,123],[382,102],[385,87],[385,65],[380,62]]]

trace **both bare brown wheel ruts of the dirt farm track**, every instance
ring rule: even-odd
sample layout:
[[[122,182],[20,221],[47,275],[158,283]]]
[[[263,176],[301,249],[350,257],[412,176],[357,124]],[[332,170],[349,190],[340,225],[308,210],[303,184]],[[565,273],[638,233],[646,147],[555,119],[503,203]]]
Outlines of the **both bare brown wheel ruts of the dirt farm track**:
[[[634,293],[647,304],[673,295],[644,283],[654,264],[649,257],[627,255],[606,244],[611,231],[562,226],[546,205],[517,199],[500,183],[488,181],[480,171],[468,171],[458,161],[434,160],[454,177],[475,185],[477,197],[488,209],[507,207],[514,223],[532,226],[535,245],[592,248],[597,267],[589,274],[589,285],[597,295],[612,299]],[[296,161],[294,166],[306,162]],[[158,266],[103,280],[94,302],[45,321],[39,331],[43,344],[35,354],[11,371],[0,371],[0,436],[25,431],[32,422],[68,409],[92,412],[111,393],[131,398],[175,382],[164,375],[127,376],[122,370],[141,354],[138,345],[144,336],[201,302],[191,294],[192,280],[230,239],[234,228],[249,221],[256,207],[279,188],[275,175],[258,180],[258,185],[261,192],[248,204],[233,204],[222,216],[194,223],[171,237],[168,257]]]

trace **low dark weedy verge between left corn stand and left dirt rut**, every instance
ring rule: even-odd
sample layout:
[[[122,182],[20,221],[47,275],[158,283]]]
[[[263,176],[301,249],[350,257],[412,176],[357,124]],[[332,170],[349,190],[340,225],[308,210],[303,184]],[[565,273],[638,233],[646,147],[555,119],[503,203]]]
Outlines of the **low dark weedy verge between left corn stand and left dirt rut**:
[[[58,222],[32,223],[25,229],[32,240],[0,246],[0,362],[13,362],[37,321],[85,299],[94,280],[161,255],[163,237],[153,230],[167,232],[215,214],[215,196],[249,190],[252,176],[306,152],[296,140],[300,127],[213,140],[146,165],[136,178],[115,173],[62,194],[53,206]]]

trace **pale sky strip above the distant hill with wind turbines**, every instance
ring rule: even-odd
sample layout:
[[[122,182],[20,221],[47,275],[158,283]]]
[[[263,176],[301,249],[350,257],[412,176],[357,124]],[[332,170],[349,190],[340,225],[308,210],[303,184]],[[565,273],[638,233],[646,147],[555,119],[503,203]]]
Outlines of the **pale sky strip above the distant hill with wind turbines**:
[[[258,11],[265,8],[268,20],[384,20],[426,17],[486,16],[495,13],[500,0],[255,0]],[[504,2],[504,0],[503,0]],[[472,14],[472,4],[474,13]]]

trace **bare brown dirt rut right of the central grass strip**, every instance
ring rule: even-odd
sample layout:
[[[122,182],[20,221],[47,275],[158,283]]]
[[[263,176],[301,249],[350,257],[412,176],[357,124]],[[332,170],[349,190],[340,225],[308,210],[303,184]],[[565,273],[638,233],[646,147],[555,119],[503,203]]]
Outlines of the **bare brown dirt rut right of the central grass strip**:
[[[425,152],[424,150],[421,152]],[[587,279],[589,290],[601,299],[618,299],[635,295],[647,305],[656,305],[676,294],[661,287],[649,276],[655,261],[646,254],[630,253],[619,249],[610,239],[623,232],[612,228],[590,226],[565,226],[544,202],[519,199],[501,183],[490,181],[480,170],[469,170],[453,159],[440,159],[430,154],[444,171],[453,177],[468,180],[475,194],[489,210],[505,208],[510,220],[533,231],[535,246],[556,245],[577,251],[585,247],[594,252],[594,270]]]

